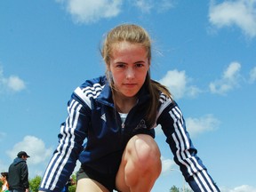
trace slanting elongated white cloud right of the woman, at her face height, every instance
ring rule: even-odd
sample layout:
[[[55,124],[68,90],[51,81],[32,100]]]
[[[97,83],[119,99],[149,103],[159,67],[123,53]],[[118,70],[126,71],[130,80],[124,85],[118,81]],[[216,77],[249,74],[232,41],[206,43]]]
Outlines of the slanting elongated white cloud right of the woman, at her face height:
[[[233,90],[236,86],[239,85],[241,77],[239,74],[240,68],[240,63],[230,63],[228,68],[223,72],[222,77],[209,84],[210,91],[212,93],[225,94]]]

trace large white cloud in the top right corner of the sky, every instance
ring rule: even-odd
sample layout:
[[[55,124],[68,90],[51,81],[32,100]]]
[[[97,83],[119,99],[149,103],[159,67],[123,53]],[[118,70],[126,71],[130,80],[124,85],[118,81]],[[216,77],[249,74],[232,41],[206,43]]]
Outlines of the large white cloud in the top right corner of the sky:
[[[213,2],[213,1],[212,1]],[[217,28],[232,25],[241,28],[245,35],[256,36],[256,0],[224,1],[211,4],[210,22]]]

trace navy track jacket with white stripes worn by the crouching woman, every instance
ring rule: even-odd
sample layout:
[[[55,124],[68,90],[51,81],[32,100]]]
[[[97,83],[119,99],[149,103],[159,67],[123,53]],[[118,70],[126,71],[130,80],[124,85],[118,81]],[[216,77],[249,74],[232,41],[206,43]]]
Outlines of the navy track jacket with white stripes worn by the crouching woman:
[[[68,101],[68,118],[60,127],[59,145],[44,172],[39,189],[60,191],[74,171],[77,159],[103,174],[115,172],[113,164],[120,163],[116,161],[115,154],[122,154],[127,141],[139,133],[154,137],[153,128],[160,124],[174,161],[180,165],[180,171],[190,187],[194,191],[220,191],[196,156],[196,148],[189,138],[180,108],[164,93],[160,96],[156,124],[148,129],[144,120],[148,97],[143,86],[137,104],[122,124],[114,108],[106,76],[85,81],[76,88]]]

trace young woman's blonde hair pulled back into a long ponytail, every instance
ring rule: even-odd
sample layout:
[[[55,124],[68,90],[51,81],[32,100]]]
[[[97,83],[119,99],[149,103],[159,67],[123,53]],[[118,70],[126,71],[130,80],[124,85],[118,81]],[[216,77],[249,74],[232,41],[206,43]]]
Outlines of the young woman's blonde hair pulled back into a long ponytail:
[[[144,28],[134,24],[122,24],[110,30],[102,45],[101,55],[107,65],[106,76],[108,78],[110,87],[112,88],[112,92],[115,89],[115,86],[113,84],[111,74],[108,71],[108,67],[110,65],[110,58],[113,53],[113,44],[123,41],[131,44],[142,45],[147,52],[148,63],[150,64],[151,62],[151,39],[148,32]],[[160,92],[164,92],[170,98],[172,98],[172,95],[164,85],[151,80],[149,70],[144,85],[147,87],[150,95],[150,105],[148,105],[146,109],[147,111],[145,118],[148,128],[151,128],[156,123],[156,112],[159,105]]]

